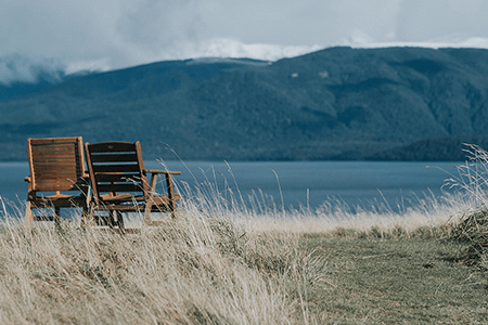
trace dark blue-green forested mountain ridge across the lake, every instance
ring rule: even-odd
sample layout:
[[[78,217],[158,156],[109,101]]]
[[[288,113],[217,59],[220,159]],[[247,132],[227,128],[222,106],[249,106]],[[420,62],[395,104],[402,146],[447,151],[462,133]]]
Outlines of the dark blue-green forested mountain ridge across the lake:
[[[488,136],[486,76],[477,49],[152,63],[0,100],[0,159],[23,159],[26,138],[78,134],[139,140],[151,158],[397,159],[420,141]],[[427,143],[416,159],[436,151]]]

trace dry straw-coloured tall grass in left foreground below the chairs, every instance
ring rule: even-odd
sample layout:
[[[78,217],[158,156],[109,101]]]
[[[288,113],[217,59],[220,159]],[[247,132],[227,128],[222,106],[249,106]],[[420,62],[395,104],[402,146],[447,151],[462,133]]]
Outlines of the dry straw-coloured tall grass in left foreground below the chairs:
[[[307,320],[326,264],[294,233],[257,233],[185,203],[141,234],[61,231],[13,216],[0,232],[1,324],[286,324]],[[229,213],[229,211],[228,211]]]

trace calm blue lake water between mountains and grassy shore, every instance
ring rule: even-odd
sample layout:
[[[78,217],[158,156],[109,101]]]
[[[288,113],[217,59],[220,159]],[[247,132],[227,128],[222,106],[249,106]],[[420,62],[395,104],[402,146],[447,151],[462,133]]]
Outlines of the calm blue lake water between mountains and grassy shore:
[[[208,162],[165,161],[168,170],[182,171],[175,177],[177,185],[211,186],[222,195],[241,192],[245,200],[259,190],[272,197],[278,207],[309,205],[318,208],[335,197],[351,206],[369,206],[385,200],[391,207],[414,200],[432,191],[440,196],[441,186],[455,174],[461,162],[381,162],[381,161],[295,161],[295,162]],[[158,168],[157,161],[146,161],[146,168]],[[230,167],[230,169],[229,169]],[[0,196],[18,203],[26,197],[27,162],[0,162]],[[163,179],[162,179],[163,180]],[[207,186],[208,187],[208,186]],[[281,188],[281,192],[280,192]],[[260,194],[259,194],[259,197]]]

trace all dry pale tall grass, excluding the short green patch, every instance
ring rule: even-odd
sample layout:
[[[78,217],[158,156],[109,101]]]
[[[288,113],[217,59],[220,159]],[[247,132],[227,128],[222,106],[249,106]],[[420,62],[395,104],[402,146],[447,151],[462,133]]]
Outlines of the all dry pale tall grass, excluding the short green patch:
[[[15,216],[0,200],[0,323],[317,323],[307,292],[329,286],[328,260],[300,247],[304,234],[435,232],[485,199],[476,190],[426,195],[396,210],[339,200],[284,210],[264,193],[246,198],[211,181],[178,186],[178,218],[131,235],[76,222],[27,231],[22,209]]]

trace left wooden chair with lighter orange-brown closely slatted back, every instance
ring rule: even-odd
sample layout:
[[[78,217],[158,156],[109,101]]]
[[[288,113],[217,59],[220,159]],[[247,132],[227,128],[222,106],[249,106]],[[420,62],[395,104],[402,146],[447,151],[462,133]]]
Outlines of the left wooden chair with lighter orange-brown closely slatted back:
[[[59,225],[61,208],[80,207],[86,214],[89,178],[81,136],[27,139],[27,152],[30,176],[24,179],[28,182],[25,225],[31,221]],[[54,216],[33,216],[33,209],[47,208],[53,208]]]

